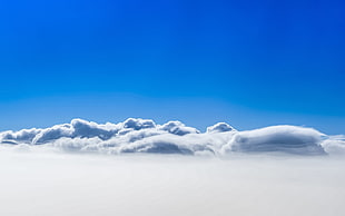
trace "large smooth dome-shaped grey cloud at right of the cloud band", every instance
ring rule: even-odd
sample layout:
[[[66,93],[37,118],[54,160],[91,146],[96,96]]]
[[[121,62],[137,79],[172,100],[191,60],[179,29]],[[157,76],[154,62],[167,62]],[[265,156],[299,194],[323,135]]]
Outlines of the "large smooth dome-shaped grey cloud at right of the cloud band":
[[[300,155],[325,154],[321,144],[323,134],[312,128],[272,126],[236,132],[224,146],[224,151],[277,151]]]

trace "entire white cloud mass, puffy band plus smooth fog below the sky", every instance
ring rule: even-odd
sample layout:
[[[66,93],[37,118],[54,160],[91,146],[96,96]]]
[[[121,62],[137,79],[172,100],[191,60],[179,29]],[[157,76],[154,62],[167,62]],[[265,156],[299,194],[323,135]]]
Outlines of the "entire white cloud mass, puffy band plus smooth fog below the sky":
[[[345,215],[345,137],[313,128],[73,119],[0,143],[0,215]]]

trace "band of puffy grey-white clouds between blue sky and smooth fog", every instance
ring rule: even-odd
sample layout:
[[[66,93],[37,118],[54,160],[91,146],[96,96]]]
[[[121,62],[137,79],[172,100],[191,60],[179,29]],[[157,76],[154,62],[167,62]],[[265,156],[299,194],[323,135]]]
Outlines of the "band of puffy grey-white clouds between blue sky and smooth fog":
[[[238,131],[218,122],[200,132],[180,121],[157,125],[129,118],[118,124],[72,119],[49,128],[0,132],[1,146],[40,147],[102,154],[181,154],[227,156],[235,153],[294,155],[344,155],[345,137],[328,137],[313,128],[272,126]]]

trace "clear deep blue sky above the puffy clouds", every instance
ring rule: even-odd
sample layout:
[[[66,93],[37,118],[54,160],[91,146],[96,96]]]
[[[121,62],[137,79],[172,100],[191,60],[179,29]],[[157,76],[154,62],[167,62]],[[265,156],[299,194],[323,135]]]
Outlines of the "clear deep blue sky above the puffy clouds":
[[[345,131],[345,3],[0,2],[0,129],[80,117]]]

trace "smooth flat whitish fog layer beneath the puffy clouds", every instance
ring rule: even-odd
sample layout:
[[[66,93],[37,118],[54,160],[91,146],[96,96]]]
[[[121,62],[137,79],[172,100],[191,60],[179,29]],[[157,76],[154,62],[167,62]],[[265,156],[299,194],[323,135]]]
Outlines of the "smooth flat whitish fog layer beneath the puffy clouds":
[[[343,216],[329,157],[91,156],[0,151],[0,215]]]

